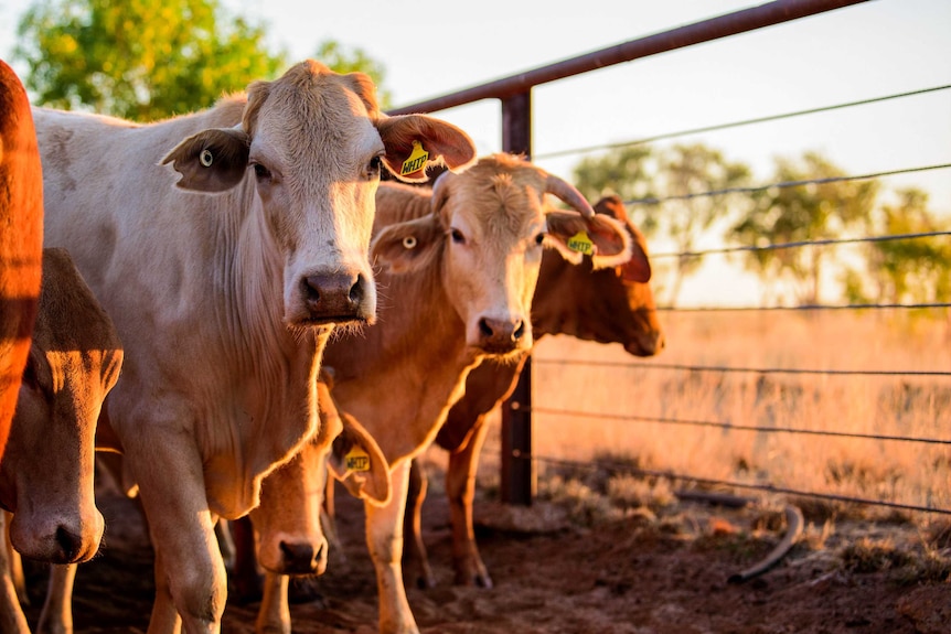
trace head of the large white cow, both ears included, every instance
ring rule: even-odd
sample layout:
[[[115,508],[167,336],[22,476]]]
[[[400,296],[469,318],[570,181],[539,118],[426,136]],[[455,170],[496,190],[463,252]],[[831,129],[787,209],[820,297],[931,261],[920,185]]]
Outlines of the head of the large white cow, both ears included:
[[[461,168],[471,139],[423,115],[387,117],[371,79],[308,61],[248,87],[242,121],[184,139],[163,159],[179,187],[216,193],[253,181],[270,239],[284,255],[284,319],[292,326],[372,322],[366,254],[382,169],[425,181]]]

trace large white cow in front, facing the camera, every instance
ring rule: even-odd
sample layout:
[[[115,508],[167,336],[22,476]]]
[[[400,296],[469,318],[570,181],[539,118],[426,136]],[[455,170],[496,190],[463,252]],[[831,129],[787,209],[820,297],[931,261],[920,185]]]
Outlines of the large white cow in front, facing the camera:
[[[314,434],[333,327],[375,319],[381,170],[425,181],[474,147],[438,119],[385,116],[366,75],[314,61],[148,125],[33,115],[46,244],[70,249],[126,346],[106,411],[156,551],[149,633],[218,632],[214,526],[257,506]]]

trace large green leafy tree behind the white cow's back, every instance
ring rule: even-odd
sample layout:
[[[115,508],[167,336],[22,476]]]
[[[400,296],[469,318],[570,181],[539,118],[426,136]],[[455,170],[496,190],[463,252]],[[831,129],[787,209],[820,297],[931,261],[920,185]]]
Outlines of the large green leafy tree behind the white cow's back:
[[[18,33],[41,104],[138,121],[209,107],[285,65],[261,25],[218,0],[40,0]]]

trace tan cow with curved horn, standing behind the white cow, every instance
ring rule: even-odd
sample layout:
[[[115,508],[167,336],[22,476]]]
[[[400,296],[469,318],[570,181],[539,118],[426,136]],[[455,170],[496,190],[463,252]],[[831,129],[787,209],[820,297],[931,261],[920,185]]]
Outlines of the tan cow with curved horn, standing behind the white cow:
[[[553,208],[547,194],[574,208]],[[334,340],[324,358],[334,368],[335,402],[389,466],[391,499],[364,502],[381,632],[418,632],[400,569],[409,461],[432,442],[471,367],[531,348],[531,300],[546,246],[574,262],[592,252],[598,267],[631,256],[622,225],[520,157],[483,157],[440,175],[431,191],[384,183],[377,192],[371,255],[385,269],[378,283],[387,300],[376,325]]]

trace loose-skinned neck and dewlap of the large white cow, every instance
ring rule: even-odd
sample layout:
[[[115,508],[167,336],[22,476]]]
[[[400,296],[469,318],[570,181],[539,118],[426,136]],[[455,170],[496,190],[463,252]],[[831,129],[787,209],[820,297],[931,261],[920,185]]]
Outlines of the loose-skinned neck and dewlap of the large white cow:
[[[217,458],[207,472],[222,477],[206,481],[210,503],[225,517],[256,505],[263,477],[317,429],[313,387],[327,341],[285,325],[281,250],[267,230],[254,182],[246,180],[234,195],[253,203],[236,202],[232,209],[246,208],[244,215],[218,218],[222,265],[214,283],[236,409],[226,426],[229,438],[213,442]]]

